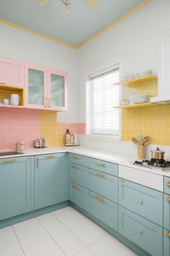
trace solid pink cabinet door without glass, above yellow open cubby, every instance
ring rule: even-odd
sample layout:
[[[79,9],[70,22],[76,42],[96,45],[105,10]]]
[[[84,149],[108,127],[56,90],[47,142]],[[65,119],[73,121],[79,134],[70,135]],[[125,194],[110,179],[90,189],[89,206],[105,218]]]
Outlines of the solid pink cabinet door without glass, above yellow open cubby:
[[[24,62],[0,57],[0,84],[24,88]]]

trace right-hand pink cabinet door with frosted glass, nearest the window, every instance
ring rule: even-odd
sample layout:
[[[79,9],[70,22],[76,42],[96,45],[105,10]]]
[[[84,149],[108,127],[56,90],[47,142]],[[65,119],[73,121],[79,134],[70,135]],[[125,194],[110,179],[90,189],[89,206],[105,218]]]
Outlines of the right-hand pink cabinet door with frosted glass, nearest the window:
[[[48,109],[68,109],[68,75],[55,69],[48,69]]]

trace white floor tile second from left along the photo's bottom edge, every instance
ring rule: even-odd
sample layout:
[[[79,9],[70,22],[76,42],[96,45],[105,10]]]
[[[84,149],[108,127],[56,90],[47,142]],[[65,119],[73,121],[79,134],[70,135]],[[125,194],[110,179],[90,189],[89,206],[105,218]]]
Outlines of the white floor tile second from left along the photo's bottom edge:
[[[65,255],[36,218],[15,224],[14,230],[27,256]]]

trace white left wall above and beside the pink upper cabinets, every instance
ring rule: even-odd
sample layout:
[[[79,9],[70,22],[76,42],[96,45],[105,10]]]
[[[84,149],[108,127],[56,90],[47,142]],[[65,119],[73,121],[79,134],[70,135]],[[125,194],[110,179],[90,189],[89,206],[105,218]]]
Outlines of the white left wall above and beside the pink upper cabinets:
[[[0,56],[68,72],[68,111],[58,121],[77,122],[77,51],[0,23]]]

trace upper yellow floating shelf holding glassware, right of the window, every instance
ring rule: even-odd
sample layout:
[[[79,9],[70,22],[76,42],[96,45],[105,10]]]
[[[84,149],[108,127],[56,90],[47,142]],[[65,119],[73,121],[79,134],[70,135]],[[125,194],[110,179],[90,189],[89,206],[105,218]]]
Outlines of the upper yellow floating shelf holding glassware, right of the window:
[[[135,78],[133,80],[128,80],[128,81],[121,81],[121,82],[116,82],[115,85],[119,86],[134,86],[134,85],[139,85],[143,82],[151,82],[154,80],[158,80],[158,77],[156,75],[147,75],[145,77],[139,77]]]

